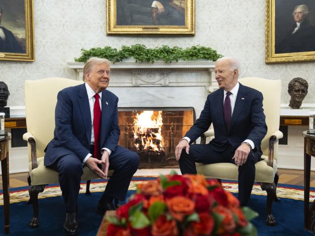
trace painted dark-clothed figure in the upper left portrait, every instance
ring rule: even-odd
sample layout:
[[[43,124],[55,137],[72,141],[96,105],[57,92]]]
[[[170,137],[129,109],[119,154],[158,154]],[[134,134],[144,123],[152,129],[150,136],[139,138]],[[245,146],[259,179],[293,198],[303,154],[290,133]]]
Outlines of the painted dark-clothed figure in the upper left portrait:
[[[0,23],[3,10],[0,7]],[[25,53],[13,33],[0,25],[0,52],[3,53]]]

